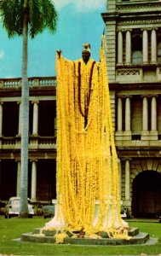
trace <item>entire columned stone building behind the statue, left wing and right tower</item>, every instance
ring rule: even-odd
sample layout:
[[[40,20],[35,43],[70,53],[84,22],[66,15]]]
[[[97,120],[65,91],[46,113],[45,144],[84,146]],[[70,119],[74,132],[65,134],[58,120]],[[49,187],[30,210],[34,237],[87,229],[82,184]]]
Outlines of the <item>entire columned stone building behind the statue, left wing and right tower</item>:
[[[161,212],[161,1],[107,0],[106,63],[123,206]],[[92,42],[91,42],[92,43]],[[55,198],[55,78],[30,78],[28,196]],[[0,199],[20,195],[20,79],[0,80]]]

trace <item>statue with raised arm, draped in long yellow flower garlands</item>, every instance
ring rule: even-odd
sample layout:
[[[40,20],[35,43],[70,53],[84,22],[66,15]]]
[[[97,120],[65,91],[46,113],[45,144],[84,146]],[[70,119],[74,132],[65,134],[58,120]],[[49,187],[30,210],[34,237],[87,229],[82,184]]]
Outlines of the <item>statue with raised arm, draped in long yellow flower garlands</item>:
[[[89,44],[77,61],[57,51],[57,206],[45,229],[80,231],[84,237],[104,231],[128,239],[120,216],[104,45],[102,38],[99,62],[90,59]]]

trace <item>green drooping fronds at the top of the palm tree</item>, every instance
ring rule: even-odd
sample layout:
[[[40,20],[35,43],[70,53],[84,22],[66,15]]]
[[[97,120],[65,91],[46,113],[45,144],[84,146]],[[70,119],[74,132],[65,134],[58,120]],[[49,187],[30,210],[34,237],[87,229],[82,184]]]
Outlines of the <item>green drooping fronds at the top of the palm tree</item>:
[[[3,0],[0,16],[9,38],[22,35],[24,14],[28,15],[29,33],[34,38],[45,28],[55,32],[57,12],[51,0]]]

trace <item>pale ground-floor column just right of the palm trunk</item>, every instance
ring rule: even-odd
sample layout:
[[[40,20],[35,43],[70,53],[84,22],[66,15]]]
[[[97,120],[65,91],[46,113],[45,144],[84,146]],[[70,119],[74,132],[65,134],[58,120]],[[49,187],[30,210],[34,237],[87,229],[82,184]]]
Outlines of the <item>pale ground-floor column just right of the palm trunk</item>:
[[[37,160],[32,160],[32,191],[31,191],[32,201],[37,199]]]

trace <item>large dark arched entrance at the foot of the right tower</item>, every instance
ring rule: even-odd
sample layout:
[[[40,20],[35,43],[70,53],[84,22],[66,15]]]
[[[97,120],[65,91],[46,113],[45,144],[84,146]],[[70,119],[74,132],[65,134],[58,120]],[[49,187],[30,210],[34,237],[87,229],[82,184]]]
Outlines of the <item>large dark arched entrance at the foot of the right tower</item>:
[[[133,182],[132,214],[134,217],[154,217],[161,212],[161,174],[145,171]]]

